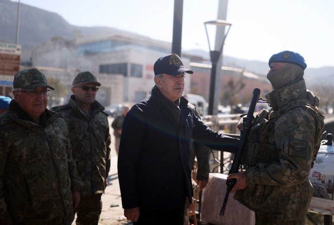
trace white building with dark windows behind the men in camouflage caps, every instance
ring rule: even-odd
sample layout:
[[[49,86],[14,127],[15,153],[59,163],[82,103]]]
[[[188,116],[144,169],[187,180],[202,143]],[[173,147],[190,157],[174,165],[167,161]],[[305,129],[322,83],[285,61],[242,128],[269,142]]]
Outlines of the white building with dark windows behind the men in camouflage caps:
[[[44,68],[43,73],[59,79],[69,89],[76,73],[90,71],[102,84],[97,100],[107,106],[137,103],[150,96],[155,85],[154,63],[159,57],[171,54],[170,49],[170,43],[129,34],[81,38],[72,42],[53,38],[34,45],[22,61],[28,60],[25,64],[35,68],[52,67]],[[182,58],[182,61],[185,68],[190,68],[189,59]],[[188,74],[186,80],[185,91],[190,90]]]

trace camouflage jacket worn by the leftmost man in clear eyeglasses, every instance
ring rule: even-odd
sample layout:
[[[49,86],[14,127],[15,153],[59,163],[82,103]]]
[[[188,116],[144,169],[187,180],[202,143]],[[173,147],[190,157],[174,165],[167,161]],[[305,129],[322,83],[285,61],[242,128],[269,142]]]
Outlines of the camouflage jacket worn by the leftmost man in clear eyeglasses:
[[[1,225],[71,225],[74,220],[72,192],[82,182],[69,132],[59,113],[46,109],[42,115],[39,126],[14,100],[0,115]]]

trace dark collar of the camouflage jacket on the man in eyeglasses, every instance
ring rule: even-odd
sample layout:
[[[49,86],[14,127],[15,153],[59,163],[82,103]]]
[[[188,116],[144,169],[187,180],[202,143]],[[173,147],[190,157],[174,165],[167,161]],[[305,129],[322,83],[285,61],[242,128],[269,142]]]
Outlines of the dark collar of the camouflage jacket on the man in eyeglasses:
[[[41,116],[44,118],[41,118],[42,126],[40,126],[32,121],[30,116],[24,110],[21,109],[21,107],[15,100],[12,100],[10,102],[6,114],[9,118],[11,118],[15,122],[23,126],[39,126],[43,128],[50,125],[54,120],[56,120],[60,116],[60,114],[57,112],[52,112],[49,111],[48,109],[45,109],[44,112],[41,114]]]

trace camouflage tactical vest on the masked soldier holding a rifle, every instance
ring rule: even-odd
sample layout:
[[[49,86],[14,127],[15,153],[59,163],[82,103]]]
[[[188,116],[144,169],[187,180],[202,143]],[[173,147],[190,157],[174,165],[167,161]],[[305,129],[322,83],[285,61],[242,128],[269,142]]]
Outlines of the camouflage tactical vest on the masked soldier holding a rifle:
[[[281,106],[278,110],[262,110],[253,122],[248,135],[246,151],[243,155],[245,168],[255,167],[258,163],[279,162],[279,151],[275,146],[275,123],[285,113],[296,107],[303,107],[311,112],[316,123],[316,127],[324,127],[324,116],[318,110],[319,99],[310,91],[306,91],[295,100]],[[322,133],[315,133],[313,161],[320,148]],[[314,163],[312,163],[312,168]]]

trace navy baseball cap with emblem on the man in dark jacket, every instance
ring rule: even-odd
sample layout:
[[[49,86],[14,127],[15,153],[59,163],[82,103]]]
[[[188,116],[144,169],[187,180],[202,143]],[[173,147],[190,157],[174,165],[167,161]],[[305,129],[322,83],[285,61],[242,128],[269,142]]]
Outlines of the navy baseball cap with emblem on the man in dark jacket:
[[[177,76],[183,73],[193,74],[194,72],[184,68],[183,62],[177,54],[163,56],[154,63],[155,75],[168,74]]]

